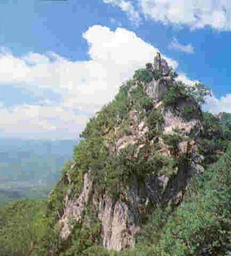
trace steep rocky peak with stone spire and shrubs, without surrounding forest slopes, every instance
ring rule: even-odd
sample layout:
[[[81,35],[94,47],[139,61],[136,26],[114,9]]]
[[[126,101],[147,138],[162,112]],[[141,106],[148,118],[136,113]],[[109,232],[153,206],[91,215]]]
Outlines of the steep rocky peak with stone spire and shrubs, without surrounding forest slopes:
[[[72,165],[49,195],[63,240],[76,223],[90,227],[94,215],[97,244],[132,248],[146,217],[180,204],[190,178],[203,172],[196,143],[202,113],[175,78],[158,53],[89,121]]]

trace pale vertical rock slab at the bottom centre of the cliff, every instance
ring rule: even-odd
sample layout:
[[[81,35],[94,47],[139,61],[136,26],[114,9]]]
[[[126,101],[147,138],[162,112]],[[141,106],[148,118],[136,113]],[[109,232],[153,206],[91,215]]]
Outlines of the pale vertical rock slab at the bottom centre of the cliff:
[[[102,245],[120,251],[135,245],[134,234],[140,230],[139,192],[136,179],[128,192],[118,201],[105,194],[96,204],[102,223]],[[129,202],[130,204],[127,204]]]

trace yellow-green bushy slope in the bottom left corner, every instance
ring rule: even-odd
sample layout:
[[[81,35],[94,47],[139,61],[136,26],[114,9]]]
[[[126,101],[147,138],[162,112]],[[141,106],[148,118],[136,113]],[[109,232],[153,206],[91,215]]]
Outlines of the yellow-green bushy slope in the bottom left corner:
[[[19,200],[0,207],[0,255],[26,255],[45,234],[46,201]]]

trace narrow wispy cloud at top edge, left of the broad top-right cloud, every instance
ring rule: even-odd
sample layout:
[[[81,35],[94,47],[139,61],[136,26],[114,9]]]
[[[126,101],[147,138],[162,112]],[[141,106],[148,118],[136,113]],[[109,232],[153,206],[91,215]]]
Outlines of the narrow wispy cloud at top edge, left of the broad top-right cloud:
[[[118,6],[123,12],[128,14],[129,20],[136,26],[140,25],[141,18],[139,12],[135,10],[130,1],[124,0],[103,0],[106,4],[113,4]]]

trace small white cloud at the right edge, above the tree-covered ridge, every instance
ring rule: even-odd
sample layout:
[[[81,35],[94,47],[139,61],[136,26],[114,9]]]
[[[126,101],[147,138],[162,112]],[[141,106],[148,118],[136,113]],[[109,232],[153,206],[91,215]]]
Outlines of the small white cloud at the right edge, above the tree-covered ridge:
[[[209,111],[213,114],[219,112],[229,112],[231,113],[231,94],[226,94],[226,96],[216,99],[214,95],[212,97],[207,97],[206,104],[203,106],[205,111]]]

